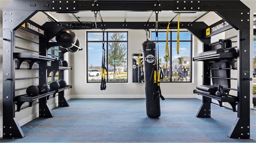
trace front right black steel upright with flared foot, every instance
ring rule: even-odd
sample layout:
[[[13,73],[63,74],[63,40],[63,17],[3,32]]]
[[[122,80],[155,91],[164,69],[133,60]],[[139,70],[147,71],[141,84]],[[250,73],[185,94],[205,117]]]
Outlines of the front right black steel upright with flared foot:
[[[237,118],[228,133],[230,138],[250,138],[250,29],[239,29],[238,43],[238,99]]]

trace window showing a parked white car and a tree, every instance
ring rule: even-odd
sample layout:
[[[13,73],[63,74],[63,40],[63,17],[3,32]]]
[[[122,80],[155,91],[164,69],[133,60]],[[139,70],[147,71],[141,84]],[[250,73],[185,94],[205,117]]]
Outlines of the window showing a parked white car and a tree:
[[[128,32],[104,32],[105,66],[108,70],[106,82],[127,82],[127,34]],[[87,82],[101,81],[103,61],[103,33],[87,32]],[[100,74],[90,74],[90,70],[99,70]],[[94,75],[94,76],[92,76]],[[98,76],[97,76],[98,75]]]

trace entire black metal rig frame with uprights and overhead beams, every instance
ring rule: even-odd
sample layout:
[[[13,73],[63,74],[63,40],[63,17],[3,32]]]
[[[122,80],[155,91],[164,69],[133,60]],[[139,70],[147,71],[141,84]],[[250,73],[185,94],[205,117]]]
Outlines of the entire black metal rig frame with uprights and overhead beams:
[[[3,139],[22,138],[24,133],[15,118],[15,30],[39,11],[76,13],[80,11],[123,10],[162,11],[177,13],[213,11],[237,30],[237,119],[228,137],[250,138],[250,9],[239,0],[14,0],[3,10]],[[97,22],[97,29],[155,29],[155,22]],[[158,22],[159,29],[166,29],[168,22]],[[62,29],[96,29],[94,22],[46,22],[46,37],[40,37],[40,55],[46,56],[51,46],[48,41]],[[180,22],[181,29],[188,29],[205,47],[210,37],[205,37],[204,22]],[[177,22],[170,24],[177,28]],[[245,64],[246,63],[246,64]],[[40,65],[40,83],[46,83],[46,65]],[[204,65],[203,84],[210,84]],[[40,105],[40,114],[51,116],[46,100]],[[198,116],[210,118],[211,97],[204,96]],[[43,110],[46,109],[46,110]],[[45,113],[42,113],[42,112]],[[204,113],[205,112],[205,113]],[[203,116],[207,114],[208,116]]]

